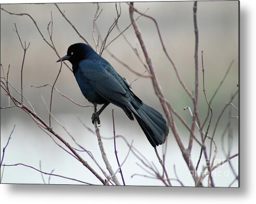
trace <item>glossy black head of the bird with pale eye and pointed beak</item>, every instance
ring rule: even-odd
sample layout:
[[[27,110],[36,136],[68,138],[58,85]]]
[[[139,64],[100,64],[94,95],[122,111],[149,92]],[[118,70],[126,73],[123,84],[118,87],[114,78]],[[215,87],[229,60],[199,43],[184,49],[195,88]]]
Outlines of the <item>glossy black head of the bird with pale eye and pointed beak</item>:
[[[72,65],[77,64],[81,60],[88,59],[92,53],[94,54],[96,52],[90,46],[84,43],[76,43],[71,45],[66,55],[57,62],[69,60]]]

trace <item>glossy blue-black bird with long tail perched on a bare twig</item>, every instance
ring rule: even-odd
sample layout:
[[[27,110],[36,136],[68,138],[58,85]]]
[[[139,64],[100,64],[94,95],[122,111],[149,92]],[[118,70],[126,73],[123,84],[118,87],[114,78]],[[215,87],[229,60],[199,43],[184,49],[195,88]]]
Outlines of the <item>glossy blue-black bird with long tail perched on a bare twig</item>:
[[[133,116],[137,119],[153,147],[165,142],[168,126],[163,116],[143,103],[131,91],[126,79],[90,46],[83,43],[71,45],[67,55],[61,60],[71,62],[76,81],[85,98],[93,104],[104,104],[96,114],[92,114],[93,124],[95,120],[100,123],[99,115],[107,105],[113,103],[122,108],[131,120],[134,120]]]

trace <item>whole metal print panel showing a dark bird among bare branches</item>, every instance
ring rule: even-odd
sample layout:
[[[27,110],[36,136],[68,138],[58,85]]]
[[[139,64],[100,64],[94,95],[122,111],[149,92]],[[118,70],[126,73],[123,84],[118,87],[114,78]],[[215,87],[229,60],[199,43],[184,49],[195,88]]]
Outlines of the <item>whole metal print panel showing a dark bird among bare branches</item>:
[[[1,183],[239,187],[239,2],[1,5]]]

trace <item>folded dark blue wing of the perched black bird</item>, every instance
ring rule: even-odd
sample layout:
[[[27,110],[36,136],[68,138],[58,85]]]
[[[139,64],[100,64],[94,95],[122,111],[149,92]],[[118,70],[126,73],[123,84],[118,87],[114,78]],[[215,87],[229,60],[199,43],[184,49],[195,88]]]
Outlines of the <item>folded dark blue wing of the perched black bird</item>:
[[[127,90],[118,81],[122,79],[114,77],[101,64],[89,60],[81,61],[79,68],[84,79],[93,86],[101,97],[118,106],[127,105],[128,101],[125,98]]]

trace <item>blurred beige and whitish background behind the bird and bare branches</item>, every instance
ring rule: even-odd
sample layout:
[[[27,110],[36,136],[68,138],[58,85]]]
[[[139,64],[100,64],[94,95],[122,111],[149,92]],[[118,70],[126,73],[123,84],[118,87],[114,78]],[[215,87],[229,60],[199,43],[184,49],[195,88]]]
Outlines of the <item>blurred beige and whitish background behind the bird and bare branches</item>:
[[[92,3],[58,5],[60,9],[64,11],[66,17],[76,26],[78,31],[92,46],[94,46],[92,40],[92,23],[97,5]],[[101,36],[105,37],[116,18],[115,3],[100,3],[99,6],[103,10],[97,19],[97,25]],[[121,3],[120,6],[122,8],[122,13],[118,21],[118,26],[119,29],[123,31],[130,24],[129,7],[127,3]],[[53,4],[12,4],[1,5],[1,7],[10,12],[29,13],[35,19],[39,29],[41,29],[43,35],[48,40],[47,25],[51,20],[52,11],[52,39],[61,56],[66,54],[66,50],[71,44],[83,42]],[[176,64],[182,80],[193,92],[195,46],[193,2],[144,2],[134,3],[134,7],[141,12],[148,9],[146,14],[157,20],[167,51],[173,62]],[[137,17],[138,15],[136,14],[135,16]],[[238,1],[198,2],[197,22],[199,29],[199,56],[200,51],[204,50],[205,85],[208,98],[212,97],[212,94],[223,79],[228,66],[231,61],[234,60],[230,72],[212,102],[213,118],[212,126],[209,131],[209,134],[211,135],[213,127],[215,126],[217,118],[225,106],[225,103],[230,100],[231,95],[238,89]],[[36,113],[41,118],[45,119],[45,121],[48,121],[48,112],[40,94],[42,94],[49,106],[51,88],[35,88],[31,87],[31,85],[53,84],[60,67],[60,64],[56,63],[58,57],[44,42],[41,35],[39,35],[31,19],[27,16],[12,16],[1,10],[1,64],[4,67],[5,73],[10,64],[9,80],[18,90],[20,90],[20,69],[23,50],[19,38],[16,32],[14,32],[14,23],[17,25],[22,41],[24,42],[24,40],[26,40],[26,44],[30,42],[30,47],[26,52],[24,63],[23,94],[30,100]],[[141,17],[137,23],[140,26],[144,42],[149,51],[166,99],[172,104],[172,107],[184,117],[187,123],[191,124],[190,113],[187,110],[184,111],[183,108],[186,106],[193,108],[193,103],[179,84],[173,67],[165,56],[153,21]],[[97,34],[98,33],[96,33],[96,35]],[[107,42],[110,42],[118,34],[119,31],[114,29]],[[142,53],[132,26],[124,34],[131,45],[138,48]],[[108,49],[116,58],[128,64],[133,70],[136,70],[141,74],[145,71],[144,66],[122,36],[117,38]],[[116,71],[128,79],[129,82],[138,77],[115,60],[106,50],[103,52],[102,57],[109,61],[115,67]],[[143,57],[142,59],[144,60]],[[204,120],[207,115],[208,106],[203,93],[201,56],[199,57],[199,70],[198,112],[201,120]],[[2,74],[3,72],[1,70],[1,76]],[[145,73],[145,75],[146,74],[147,73]],[[80,104],[89,104],[80,92],[72,72],[65,66],[62,68],[56,88]],[[153,106],[163,114],[163,110],[154,93],[152,82],[149,78],[141,77],[134,81],[134,83],[132,83],[132,89],[142,101]],[[14,91],[13,93],[16,96]],[[235,98],[233,103],[238,107],[238,97]],[[8,97],[5,96],[4,91],[1,89],[1,107],[7,105]],[[128,142],[133,141],[133,146],[139,149],[149,161],[153,161],[159,171],[161,171],[154,150],[137,124],[137,121],[130,121],[125,113],[114,105],[109,105],[101,114],[100,131],[102,137],[113,137],[112,108],[114,108],[115,113],[116,134],[123,135]],[[53,93],[52,114],[58,118],[66,129],[68,129],[76,141],[88,149],[95,156],[99,164],[104,167],[104,163],[101,161],[102,159],[96,136],[88,131],[78,120],[79,117],[89,128],[93,129],[90,119],[92,112],[93,108],[91,107],[79,107],[61,97],[57,92]],[[238,115],[237,111],[233,108],[232,115]],[[222,140],[222,133],[228,122],[228,117],[228,111],[226,111],[220,120],[220,125],[214,136],[218,144],[216,164],[225,159],[228,139],[227,136],[225,136],[224,140]],[[189,133],[182,124],[180,124],[179,120],[177,118],[175,119],[181,138],[186,146]],[[69,135],[66,134],[54,120],[52,120],[52,123],[53,128],[66,141],[72,143]],[[65,175],[94,184],[100,184],[87,169],[53,143],[50,137],[39,129],[26,113],[17,107],[1,109],[1,153],[14,125],[16,125],[16,128],[5,153],[5,164],[23,163],[39,168],[39,161],[41,161],[43,171],[50,172],[54,169],[55,171],[53,173],[56,174]],[[229,146],[231,146],[232,155],[238,152],[238,120],[232,118],[231,125],[233,138],[229,143]],[[113,140],[104,139],[103,142],[107,156],[109,157],[111,164],[113,164],[113,169],[115,171],[118,166],[114,155]],[[158,149],[159,153],[161,153],[162,147],[158,147]],[[225,151],[223,151],[224,149]],[[121,162],[126,157],[128,150],[129,148],[126,143],[118,138],[117,151]],[[194,165],[196,165],[199,150],[200,147],[194,142],[192,149],[192,161],[194,162]],[[88,160],[92,167],[97,169],[96,165],[93,164],[85,153],[80,153],[80,155]],[[140,161],[130,154],[122,167],[127,185],[162,185],[159,180],[148,179],[141,176],[132,176],[135,173],[146,174],[137,163],[140,163]],[[203,162],[201,162],[201,164],[202,163]],[[238,173],[238,157],[232,160],[232,164],[236,173]],[[175,178],[173,171],[174,165],[179,179],[184,185],[193,186],[193,179],[185,165],[176,140],[170,132],[166,157],[166,168],[170,178]],[[2,171],[3,168],[1,169],[1,173]],[[120,178],[119,174],[118,178]],[[45,179],[48,181],[47,176],[45,176]],[[215,186],[228,186],[234,180],[234,174],[230,170],[228,164],[225,164],[213,172],[213,179],[215,181]],[[26,167],[17,166],[5,167],[2,182],[43,183],[43,180],[40,173]],[[63,180],[53,176],[50,179],[50,183],[78,184],[74,181]],[[207,179],[205,179],[204,184],[207,184]],[[173,181],[173,185],[179,186],[179,183]],[[236,181],[232,187],[237,186],[238,182]]]

